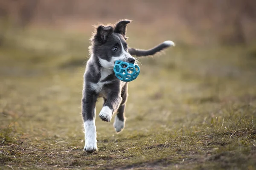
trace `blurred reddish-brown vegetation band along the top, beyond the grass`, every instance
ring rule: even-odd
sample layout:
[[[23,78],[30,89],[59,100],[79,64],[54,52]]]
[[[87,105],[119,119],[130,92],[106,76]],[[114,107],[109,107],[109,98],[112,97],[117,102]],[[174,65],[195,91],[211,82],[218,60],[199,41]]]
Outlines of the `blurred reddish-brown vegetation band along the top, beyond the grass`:
[[[0,18],[1,27],[8,23],[19,28],[31,23],[55,26],[57,21],[93,20],[97,24],[121,18],[170,24],[176,18],[177,33],[186,26],[197,38],[215,38],[224,44],[256,39],[255,0],[0,0]]]

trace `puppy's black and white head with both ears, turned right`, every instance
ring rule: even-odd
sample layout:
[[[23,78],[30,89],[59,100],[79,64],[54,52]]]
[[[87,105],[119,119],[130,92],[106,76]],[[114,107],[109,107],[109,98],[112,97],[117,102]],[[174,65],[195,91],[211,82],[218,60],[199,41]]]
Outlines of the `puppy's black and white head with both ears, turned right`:
[[[91,38],[91,52],[99,59],[104,68],[113,68],[116,60],[134,63],[135,59],[128,53],[125,40],[126,26],[130,20],[120,20],[114,26],[97,26]]]

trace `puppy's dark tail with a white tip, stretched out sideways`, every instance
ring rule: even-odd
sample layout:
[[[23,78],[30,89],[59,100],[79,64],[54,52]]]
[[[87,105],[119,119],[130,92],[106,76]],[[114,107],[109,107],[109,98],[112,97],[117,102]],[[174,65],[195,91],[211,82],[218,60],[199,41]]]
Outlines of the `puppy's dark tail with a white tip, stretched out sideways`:
[[[131,55],[135,55],[137,57],[141,56],[150,56],[154,55],[159,51],[162,51],[165,48],[168,48],[169,46],[175,46],[175,43],[172,41],[165,41],[161,44],[155,46],[154,48],[151,48],[149,50],[141,50],[141,49],[135,49],[135,48],[128,48],[128,51]]]

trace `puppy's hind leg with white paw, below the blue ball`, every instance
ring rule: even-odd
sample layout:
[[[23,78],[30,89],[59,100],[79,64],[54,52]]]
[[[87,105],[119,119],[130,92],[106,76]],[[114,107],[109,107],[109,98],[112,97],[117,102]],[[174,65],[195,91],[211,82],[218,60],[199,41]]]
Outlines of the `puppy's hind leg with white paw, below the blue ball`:
[[[128,83],[126,83],[122,88],[121,97],[122,102],[117,110],[115,122],[113,124],[117,133],[121,132],[121,130],[125,127],[125,103],[128,97]]]

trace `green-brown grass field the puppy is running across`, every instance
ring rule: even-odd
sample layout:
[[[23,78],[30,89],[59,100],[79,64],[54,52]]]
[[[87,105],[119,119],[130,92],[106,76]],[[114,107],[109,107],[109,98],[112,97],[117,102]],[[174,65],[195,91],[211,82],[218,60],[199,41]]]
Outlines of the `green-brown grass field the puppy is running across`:
[[[145,45],[148,37],[132,41]],[[188,48],[143,58],[126,127],[96,118],[85,153],[81,88],[89,34],[6,34],[0,47],[0,168],[256,169],[256,58],[251,47]],[[157,43],[157,42],[156,42]],[[102,99],[97,104],[97,114]]]

